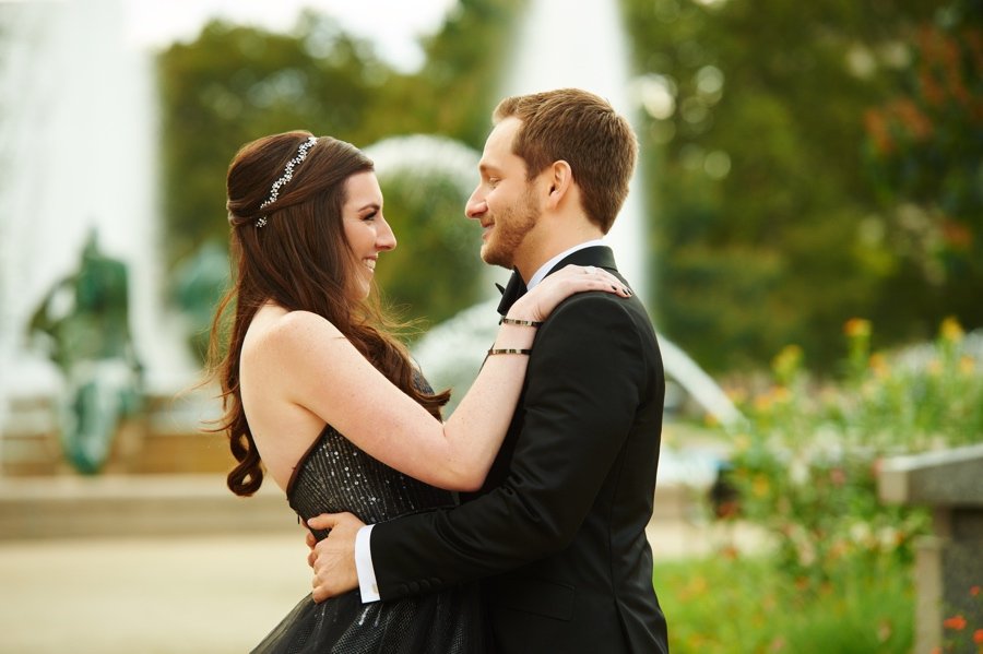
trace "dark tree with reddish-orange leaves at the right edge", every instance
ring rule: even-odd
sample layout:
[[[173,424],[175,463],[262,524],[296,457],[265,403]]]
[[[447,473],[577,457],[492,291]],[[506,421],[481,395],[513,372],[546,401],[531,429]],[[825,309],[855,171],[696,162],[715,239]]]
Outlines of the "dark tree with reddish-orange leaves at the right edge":
[[[897,92],[865,115],[865,154],[890,243],[891,298],[983,324],[983,7],[956,1],[909,31]],[[899,318],[904,318],[899,317]]]

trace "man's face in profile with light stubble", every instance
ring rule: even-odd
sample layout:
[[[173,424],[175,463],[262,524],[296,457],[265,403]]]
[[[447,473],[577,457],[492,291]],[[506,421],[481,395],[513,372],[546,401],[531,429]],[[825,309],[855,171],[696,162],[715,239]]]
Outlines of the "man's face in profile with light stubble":
[[[478,163],[481,180],[464,210],[482,224],[482,260],[507,269],[517,264],[540,216],[525,162],[512,153],[521,124],[518,118],[507,118],[492,130]]]

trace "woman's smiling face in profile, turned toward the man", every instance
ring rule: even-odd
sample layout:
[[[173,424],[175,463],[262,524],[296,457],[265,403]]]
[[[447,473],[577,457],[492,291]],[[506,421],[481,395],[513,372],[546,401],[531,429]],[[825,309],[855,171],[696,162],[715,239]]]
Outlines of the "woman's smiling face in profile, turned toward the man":
[[[352,299],[368,297],[379,252],[396,246],[395,236],[382,217],[382,190],[372,171],[358,173],[345,180],[342,225],[355,258],[351,281]]]

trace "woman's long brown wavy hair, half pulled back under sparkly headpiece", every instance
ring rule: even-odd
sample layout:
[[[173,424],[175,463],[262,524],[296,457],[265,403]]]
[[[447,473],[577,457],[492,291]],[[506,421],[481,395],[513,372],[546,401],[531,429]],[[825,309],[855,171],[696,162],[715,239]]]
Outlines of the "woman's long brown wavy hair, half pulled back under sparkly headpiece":
[[[375,294],[365,302],[347,299],[355,255],[342,228],[345,180],[374,169],[358,148],[320,136],[307,157],[294,165],[274,202],[271,194],[287,163],[297,156],[309,132],[264,136],[244,145],[233,158],[226,180],[233,285],[215,311],[209,343],[210,378],[222,389],[224,415],[212,431],[228,435],[237,465],[228,488],[240,496],[256,492],[263,466],[252,439],[239,392],[239,355],[253,316],[267,301],[287,311],[324,317],[393,384],[435,417],[449,391],[429,394],[414,383],[416,369],[405,346],[392,335],[395,323]],[[265,217],[265,225],[257,219]],[[233,311],[229,321],[226,313]],[[325,389],[325,392],[330,390]]]

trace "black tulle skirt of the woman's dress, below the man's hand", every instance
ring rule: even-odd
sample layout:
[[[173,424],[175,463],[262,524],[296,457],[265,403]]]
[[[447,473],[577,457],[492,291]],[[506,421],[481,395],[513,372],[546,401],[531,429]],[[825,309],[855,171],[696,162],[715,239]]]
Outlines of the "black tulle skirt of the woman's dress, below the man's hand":
[[[300,601],[253,654],[481,654],[486,637],[477,588],[461,586],[363,604],[357,591]]]

